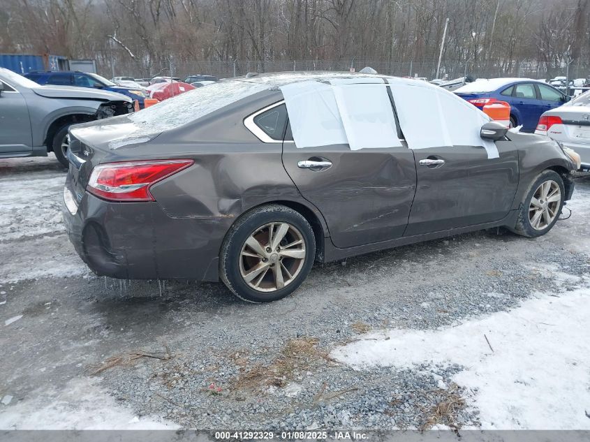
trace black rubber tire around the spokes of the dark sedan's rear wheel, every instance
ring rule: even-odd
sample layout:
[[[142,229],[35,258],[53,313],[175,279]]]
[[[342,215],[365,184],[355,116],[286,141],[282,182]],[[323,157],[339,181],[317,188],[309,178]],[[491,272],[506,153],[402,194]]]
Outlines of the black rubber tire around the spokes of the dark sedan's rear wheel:
[[[270,223],[287,223],[290,226],[290,230],[288,230],[287,235],[284,236],[285,240],[289,235],[293,235],[293,233],[300,234],[302,244],[298,247],[304,247],[304,258],[302,262],[300,259],[293,259],[293,261],[290,261],[291,258],[288,257],[284,258],[285,260],[283,261],[277,262],[277,259],[282,260],[283,257],[281,256],[279,258],[274,251],[271,251],[274,256],[272,256],[272,259],[263,258],[267,259],[268,263],[264,265],[274,266],[275,264],[270,264],[274,261],[274,263],[279,266],[278,271],[283,274],[283,267],[281,267],[281,265],[282,263],[287,262],[288,265],[295,264],[297,267],[297,273],[293,272],[293,279],[290,279],[283,288],[272,288],[272,283],[274,283],[273,281],[274,278],[276,278],[276,275],[271,272],[269,275],[271,288],[268,288],[268,290],[274,291],[260,291],[251,287],[249,283],[245,281],[244,277],[242,277],[242,271],[244,271],[244,263],[246,260],[252,259],[255,263],[259,261],[259,265],[262,261],[260,258],[244,257],[242,256],[242,251],[246,247],[246,240],[249,240],[251,235],[256,235],[259,232],[263,235],[263,228]],[[269,233],[268,236],[270,235],[271,234]],[[267,247],[269,244],[264,240],[258,244],[263,246],[265,251],[270,251],[270,248]],[[281,244],[283,243],[281,242]],[[279,249],[280,247],[277,250]],[[301,252],[303,253],[303,250],[301,250]],[[219,274],[221,276],[221,281],[223,281],[234,295],[241,300],[248,302],[276,301],[293,293],[293,291],[301,285],[304,279],[307,278],[311,266],[314,265],[315,256],[316,240],[314,237],[314,231],[311,229],[311,226],[309,226],[309,223],[302,214],[282,205],[264,205],[251,209],[249,212],[240,216],[230,228],[226,235],[226,239],[221,246]],[[277,270],[277,268],[267,270]],[[268,279],[269,277],[263,275],[261,278]],[[251,283],[253,282],[254,281],[251,281]],[[276,287],[279,287],[278,283],[276,283]]]

